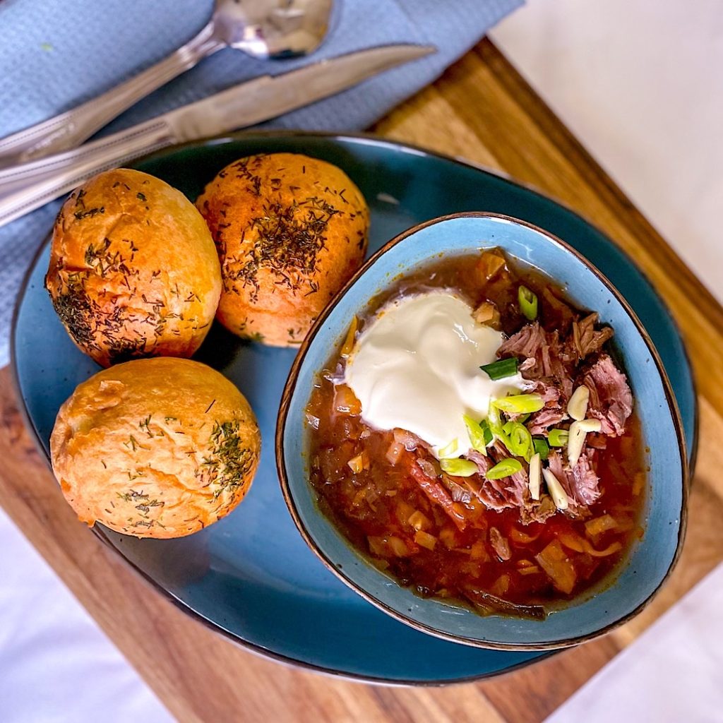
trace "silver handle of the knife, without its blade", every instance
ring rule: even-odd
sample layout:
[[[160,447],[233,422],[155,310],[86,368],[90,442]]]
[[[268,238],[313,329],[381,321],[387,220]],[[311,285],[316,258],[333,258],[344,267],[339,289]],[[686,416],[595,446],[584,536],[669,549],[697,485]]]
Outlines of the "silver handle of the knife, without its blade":
[[[27,163],[25,166],[29,170],[25,178],[26,185],[20,188],[16,186],[0,197],[0,226],[72,191],[100,171],[115,168],[175,141],[175,134],[166,119],[151,119],[66,153]],[[22,168],[11,168],[8,171],[17,174],[18,171],[22,172]],[[31,180],[30,185],[27,185],[30,176],[38,176],[38,179]],[[17,179],[15,182],[22,186],[22,182],[17,183]],[[9,187],[10,184],[5,183],[0,191],[7,191]]]

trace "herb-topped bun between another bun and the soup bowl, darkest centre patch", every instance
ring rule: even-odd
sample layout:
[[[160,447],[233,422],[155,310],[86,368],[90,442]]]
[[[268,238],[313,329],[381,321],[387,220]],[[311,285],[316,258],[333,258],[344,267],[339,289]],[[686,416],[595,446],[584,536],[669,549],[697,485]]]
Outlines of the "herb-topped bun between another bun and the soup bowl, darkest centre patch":
[[[241,158],[196,201],[218,247],[218,320],[273,346],[304,339],[361,265],[369,210],[340,168],[273,153]]]

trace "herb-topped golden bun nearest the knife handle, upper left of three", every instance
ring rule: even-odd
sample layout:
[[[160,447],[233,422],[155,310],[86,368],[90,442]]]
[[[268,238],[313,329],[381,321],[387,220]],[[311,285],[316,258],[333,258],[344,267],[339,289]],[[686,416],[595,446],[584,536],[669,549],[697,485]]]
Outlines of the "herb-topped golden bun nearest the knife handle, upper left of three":
[[[64,203],[46,287],[73,341],[108,367],[137,356],[191,356],[218,307],[221,269],[184,194],[118,168]]]

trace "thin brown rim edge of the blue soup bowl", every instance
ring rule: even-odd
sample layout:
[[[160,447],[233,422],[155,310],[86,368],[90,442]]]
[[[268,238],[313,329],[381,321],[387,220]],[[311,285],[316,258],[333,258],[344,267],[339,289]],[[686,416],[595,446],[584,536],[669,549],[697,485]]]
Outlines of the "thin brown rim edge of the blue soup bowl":
[[[430,226],[435,226],[438,223],[445,223],[446,221],[451,221],[458,218],[494,218],[500,221],[508,221],[509,223],[513,223],[518,226],[525,226],[526,228],[530,228],[531,230],[542,234],[549,241],[552,241],[553,244],[557,244],[558,246],[562,247],[562,249],[564,249],[566,252],[573,254],[574,257],[576,257],[580,262],[582,262],[583,265],[585,265],[586,268],[588,268],[592,273],[594,273],[594,275],[596,275],[599,281],[601,281],[603,285],[607,287],[607,289],[612,293],[613,296],[615,296],[615,299],[617,299],[617,301],[623,307],[628,317],[630,317],[630,320],[633,321],[633,325],[635,325],[638,333],[641,335],[641,338],[646,343],[646,346],[651,353],[651,358],[654,361],[656,370],[663,385],[663,391],[667,401],[668,411],[671,415],[673,427],[675,428],[676,432],[678,453],[680,454],[680,468],[682,472],[680,479],[680,524],[678,526],[675,554],[670,560],[664,576],[656,584],[654,589],[651,590],[650,594],[646,597],[646,599],[641,602],[641,604],[638,604],[637,607],[635,607],[633,610],[626,613],[622,617],[618,618],[617,620],[612,621],[612,623],[608,623],[602,628],[599,628],[599,630],[594,630],[591,633],[586,633],[580,636],[573,636],[570,638],[562,638],[560,640],[544,643],[505,643],[500,641],[481,641],[478,638],[455,635],[454,633],[449,633],[446,630],[439,630],[432,625],[427,625],[427,623],[422,623],[419,620],[414,620],[414,618],[408,617],[400,610],[391,607],[385,602],[382,602],[380,599],[377,599],[369,591],[359,586],[359,584],[352,580],[351,577],[349,577],[343,570],[337,568],[333,560],[331,560],[330,557],[328,557],[328,555],[326,554],[326,552],[321,549],[321,547],[317,544],[316,540],[313,538],[312,534],[310,534],[306,526],[304,526],[304,523],[301,520],[301,515],[299,515],[299,510],[296,508],[294,495],[291,493],[291,486],[288,482],[288,472],[286,470],[286,454],[283,445],[283,438],[286,434],[286,423],[288,422],[288,413],[289,407],[291,406],[291,398],[296,392],[296,385],[299,380],[301,364],[303,364],[304,359],[306,358],[309,347],[312,345],[317,334],[320,332],[323,325],[325,324],[325,321],[328,319],[331,312],[333,312],[333,309],[335,309],[337,304],[339,304],[341,299],[346,296],[351,287],[354,286],[356,282],[359,281],[359,279],[364,276],[365,273],[367,273],[367,270],[369,270],[369,268],[371,268],[386,252],[388,252],[390,249],[393,249],[393,247],[401,243],[401,241],[407,239],[409,236],[413,236],[417,232],[422,231],[424,228],[429,228]],[[514,218],[513,216],[505,215],[502,213],[492,213],[488,211],[468,211],[463,213],[450,213],[447,215],[438,216],[437,218],[432,218],[429,221],[424,221],[424,223],[419,223],[416,226],[411,226],[410,228],[407,228],[406,231],[402,231],[401,234],[398,234],[390,241],[387,241],[387,243],[385,243],[377,252],[372,254],[372,256],[370,256],[364,262],[364,264],[361,265],[361,267],[356,271],[356,273],[354,273],[354,275],[352,275],[351,278],[344,284],[341,290],[338,291],[338,294],[336,294],[323,309],[321,314],[317,317],[314,324],[312,325],[312,328],[309,330],[309,333],[307,333],[306,337],[304,338],[304,341],[301,343],[301,346],[299,347],[299,351],[296,354],[294,363],[291,365],[291,370],[288,374],[286,384],[284,385],[283,393],[281,395],[281,403],[279,404],[278,417],[276,420],[274,451],[279,484],[281,485],[281,493],[283,495],[284,501],[286,502],[286,506],[288,507],[288,511],[291,514],[291,518],[294,520],[296,529],[299,531],[299,534],[301,534],[304,542],[307,543],[309,549],[314,552],[314,554],[321,560],[321,562],[325,565],[326,568],[328,568],[328,570],[330,570],[337,578],[339,578],[343,583],[345,583],[348,587],[354,590],[362,598],[367,600],[367,602],[375,605],[375,607],[379,608],[387,615],[395,618],[395,620],[398,620],[405,625],[409,625],[411,628],[419,630],[422,633],[427,633],[428,635],[442,638],[443,640],[451,641],[453,643],[461,643],[463,645],[473,646],[476,648],[504,651],[555,650],[575,646],[579,643],[585,643],[594,640],[594,638],[599,638],[611,632],[612,630],[615,630],[615,628],[619,628],[620,625],[624,625],[629,620],[632,620],[633,617],[636,617],[636,615],[642,612],[643,609],[645,609],[650,604],[651,600],[654,599],[654,597],[659,593],[664,583],[668,580],[669,576],[671,575],[672,571],[675,569],[675,566],[680,560],[680,555],[683,549],[683,541],[685,540],[685,531],[688,526],[688,483],[690,479],[690,469],[688,461],[688,450],[685,444],[685,429],[683,427],[683,420],[680,416],[680,410],[678,409],[677,401],[675,400],[675,394],[672,390],[672,385],[670,384],[667,372],[665,371],[662,364],[662,359],[660,358],[649,333],[643,327],[641,320],[638,319],[638,315],[636,315],[636,312],[634,312],[632,307],[630,307],[628,301],[626,301],[625,297],[620,294],[620,291],[617,291],[617,288],[615,288],[612,282],[609,281],[607,276],[604,275],[604,273],[602,273],[602,271],[599,270],[592,262],[587,260],[586,257],[583,256],[583,254],[578,252],[577,249],[574,249],[570,246],[570,244],[555,236],[555,234],[552,234],[549,231],[545,231],[543,228],[536,226],[534,223],[529,223],[528,221],[523,221],[519,218]],[[358,553],[356,549],[355,552]],[[363,559],[364,556],[361,555],[361,557]],[[383,575],[382,572],[380,572],[379,574]],[[399,584],[397,581],[394,582],[396,584]]]

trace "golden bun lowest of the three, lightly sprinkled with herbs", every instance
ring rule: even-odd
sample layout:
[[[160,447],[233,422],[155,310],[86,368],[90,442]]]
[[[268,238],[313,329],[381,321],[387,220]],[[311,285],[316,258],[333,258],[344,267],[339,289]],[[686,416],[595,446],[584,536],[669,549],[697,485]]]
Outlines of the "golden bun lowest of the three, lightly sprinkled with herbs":
[[[78,517],[137,537],[181,537],[248,492],[261,437],[244,395],[188,359],[136,359],[82,382],[51,435]]]

